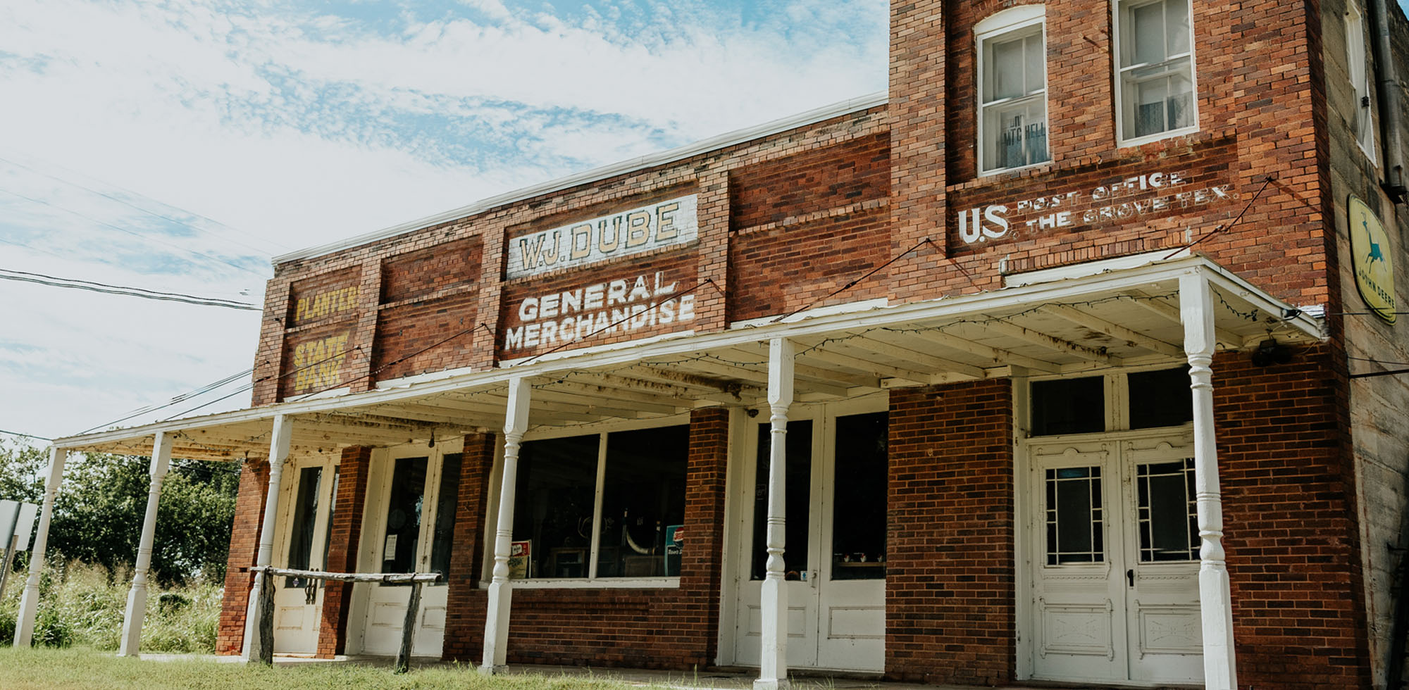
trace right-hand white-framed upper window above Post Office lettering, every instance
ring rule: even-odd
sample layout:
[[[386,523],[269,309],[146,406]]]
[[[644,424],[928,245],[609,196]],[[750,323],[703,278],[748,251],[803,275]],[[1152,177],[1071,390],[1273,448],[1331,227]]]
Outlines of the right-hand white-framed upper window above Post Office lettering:
[[[1198,130],[1189,0],[1116,0],[1115,21],[1120,144]]]

